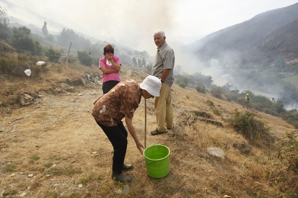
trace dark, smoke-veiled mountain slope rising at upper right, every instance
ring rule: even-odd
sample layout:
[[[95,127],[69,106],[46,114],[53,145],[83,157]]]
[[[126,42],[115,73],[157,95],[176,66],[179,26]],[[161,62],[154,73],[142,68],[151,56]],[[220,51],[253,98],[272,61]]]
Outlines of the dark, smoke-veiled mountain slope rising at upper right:
[[[271,64],[298,57],[298,3],[256,15],[207,35],[190,46],[202,61],[229,66]]]

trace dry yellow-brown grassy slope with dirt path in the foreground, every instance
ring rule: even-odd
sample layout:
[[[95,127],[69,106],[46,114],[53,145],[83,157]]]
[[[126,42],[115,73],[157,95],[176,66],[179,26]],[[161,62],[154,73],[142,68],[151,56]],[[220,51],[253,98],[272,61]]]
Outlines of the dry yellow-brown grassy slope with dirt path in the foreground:
[[[1,102],[7,105],[0,107],[6,112],[0,118],[0,197],[23,193],[25,197],[119,196],[115,191],[124,184],[111,180],[113,148],[91,116],[93,102],[102,90],[85,74],[100,75],[97,66],[69,64],[67,74],[59,63],[46,67],[48,70],[37,78],[0,79]],[[125,65],[120,75],[141,82],[145,72]],[[125,161],[134,164],[134,169],[126,172],[133,178],[127,197],[285,197],[288,183],[281,180],[281,175],[276,183],[277,179],[269,174],[276,171],[266,156],[275,145],[250,145],[242,134],[226,125],[235,108],[245,112],[239,104],[177,84],[172,89],[175,129],[168,134],[149,134],[156,127],[156,119],[154,101],[147,101],[147,145],[170,148],[170,174],[162,179],[150,178],[144,157],[128,135]],[[24,92],[35,97],[34,103],[24,107],[13,104],[13,98]],[[221,115],[210,109],[208,100]],[[141,142],[144,112],[142,98],[133,118]],[[223,127],[204,122],[198,116],[202,112]],[[254,112],[268,122],[274,129],[271,134],[277,137],[294,130],[281,118]],[[221,148],[226,156],[212,156],[207,147]],[[295,184],[297,176],[295,179],[288,175],[287,180]],[[297,189],[291,189],[293,195],[295,192]]]

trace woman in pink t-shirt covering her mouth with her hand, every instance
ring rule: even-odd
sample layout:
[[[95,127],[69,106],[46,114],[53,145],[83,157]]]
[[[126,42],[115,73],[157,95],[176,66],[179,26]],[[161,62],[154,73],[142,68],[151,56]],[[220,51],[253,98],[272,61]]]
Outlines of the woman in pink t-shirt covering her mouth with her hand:
[[[103,58],[99,60],[99,69],[103,72],[103,94],[108,93],[120,79],[121,60],[114,55],[114,48],[112,45],[107,45],[103,48]]]

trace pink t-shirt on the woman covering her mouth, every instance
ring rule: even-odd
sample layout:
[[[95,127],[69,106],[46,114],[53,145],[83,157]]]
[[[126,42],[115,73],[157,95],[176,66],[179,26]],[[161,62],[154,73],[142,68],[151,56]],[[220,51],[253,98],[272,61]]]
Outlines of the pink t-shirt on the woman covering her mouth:
[[[116,64],[121,65],[121,60],[118,56],[113,55],[113,60]],[[113,67],[113,65],[111,64],[111,62],[108,61],[106,56],[104,56],[103,58],[100,58],[100,60],[99,60],[99,68],[104,67],[104,66],[107,69],[115,69]],[[121,81],[119,72],[115,72],[112,74],[103,74],[102,78],[103,78],[103,83],[106,81],[109,81],[109,80],[117,80],[119,82]]]

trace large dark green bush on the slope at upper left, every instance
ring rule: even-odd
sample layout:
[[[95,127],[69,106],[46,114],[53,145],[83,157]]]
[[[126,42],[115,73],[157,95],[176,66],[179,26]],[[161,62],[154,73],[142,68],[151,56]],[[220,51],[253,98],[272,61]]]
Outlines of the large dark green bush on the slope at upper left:
[[[30,36],[31,30],[25,26],[22,27],[13,27],[13,38],[11,39],[11,43],[13,47],[28,50],[33,52],[40,52],[41,45],[40,42],[34,40]]]

